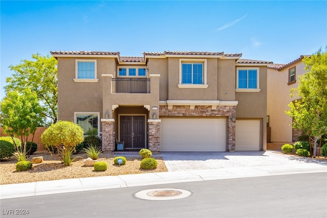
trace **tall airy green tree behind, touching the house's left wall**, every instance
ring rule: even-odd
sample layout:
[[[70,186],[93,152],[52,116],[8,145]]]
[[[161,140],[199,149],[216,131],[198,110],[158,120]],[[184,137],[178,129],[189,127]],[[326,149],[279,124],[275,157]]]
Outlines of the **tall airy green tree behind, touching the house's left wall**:
[[[24,60],[16,66],[10,66],[14,73],[6,80],[8,85],[5,86],[5,91],[22,93],[30,88],[36,93],[43,108],[44,119],[41,125],[49,126],[56,123],[58,117],[57,60],[40,54],[33,54],[32,58],[34,60]]]

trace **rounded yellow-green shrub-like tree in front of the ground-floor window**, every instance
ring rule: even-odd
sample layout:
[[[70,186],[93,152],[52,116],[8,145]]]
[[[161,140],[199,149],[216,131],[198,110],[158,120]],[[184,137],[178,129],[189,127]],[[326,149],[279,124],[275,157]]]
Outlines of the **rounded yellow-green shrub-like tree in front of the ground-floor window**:
[[[50,148],[55,146],[65,166],[69,166],[77,144],[84,141],[84,130],[73,122],[59,121],[43,132],[41,141],[52,155]]]

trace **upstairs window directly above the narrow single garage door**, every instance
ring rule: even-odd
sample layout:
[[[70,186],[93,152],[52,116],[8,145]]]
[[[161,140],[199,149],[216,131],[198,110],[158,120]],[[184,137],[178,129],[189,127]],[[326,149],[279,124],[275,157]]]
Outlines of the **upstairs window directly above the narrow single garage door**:
[[[237,67],[236,91],[260,91],[259,67]]]

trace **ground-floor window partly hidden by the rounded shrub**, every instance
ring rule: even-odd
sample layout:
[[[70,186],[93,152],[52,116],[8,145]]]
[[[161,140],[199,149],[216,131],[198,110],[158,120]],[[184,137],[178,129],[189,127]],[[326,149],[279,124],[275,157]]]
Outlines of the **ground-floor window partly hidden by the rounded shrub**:
[[[100,136],[100,113],[99,112],[75,112],[75,124],[84,130],[84,136]]]

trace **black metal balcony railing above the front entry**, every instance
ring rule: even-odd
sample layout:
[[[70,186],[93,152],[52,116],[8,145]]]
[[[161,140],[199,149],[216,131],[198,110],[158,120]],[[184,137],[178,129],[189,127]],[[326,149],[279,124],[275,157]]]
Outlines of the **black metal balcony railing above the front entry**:
[[[112,78],[112,91],[116,93],[150,93],[150,79]]]

